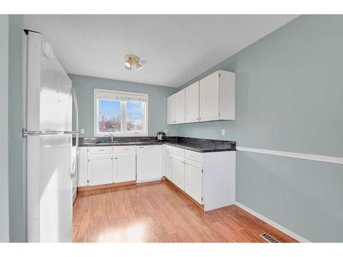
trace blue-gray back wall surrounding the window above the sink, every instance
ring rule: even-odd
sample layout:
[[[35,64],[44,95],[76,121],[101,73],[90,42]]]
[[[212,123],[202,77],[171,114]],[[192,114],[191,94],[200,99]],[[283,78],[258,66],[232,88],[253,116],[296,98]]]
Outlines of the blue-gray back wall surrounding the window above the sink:
[[[157,132],[165,129],[168,130],[168,136],[176,136],[177,127],[167,125],[167,96],[172,95],[176,88],[73,74],[69,74],[69,77],[78,97],[79,127],[85,130],[85,134],[80,136],[94,136],[94,88],[147,94],[149,136],[156,136]]]

